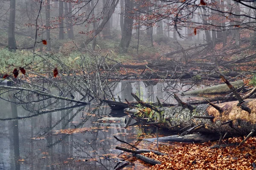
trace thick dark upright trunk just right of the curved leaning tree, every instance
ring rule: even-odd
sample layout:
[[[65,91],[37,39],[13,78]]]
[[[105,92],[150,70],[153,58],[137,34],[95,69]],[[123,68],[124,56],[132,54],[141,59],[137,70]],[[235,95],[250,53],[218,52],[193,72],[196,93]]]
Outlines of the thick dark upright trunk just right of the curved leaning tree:
[[[134,3],[133,0],[125,0],[125,18],[124,18],[124,27],[121,42],[119,47],[123,52],[127,52],[127,49],[131,42],[132,36],[132,27],[133,27],[133,14],[131,13]]]

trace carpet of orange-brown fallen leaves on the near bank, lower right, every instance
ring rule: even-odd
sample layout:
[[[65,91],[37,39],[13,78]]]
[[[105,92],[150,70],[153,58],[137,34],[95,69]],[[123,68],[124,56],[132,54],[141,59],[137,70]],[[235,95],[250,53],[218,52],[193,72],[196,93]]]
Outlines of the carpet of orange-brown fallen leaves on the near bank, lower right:
[[[226,139],[225,142],[241,142],[241,138]],[[154,153],[144,153],[162,164],[150,167],[151,170],[248,170],[253,169],[256,161],[256,138],[250,138],[241,147],[225,147],[210,149],[215,143],[183,144],[180,146],[162,145],[160,151],[168,156],[157,156]]]

